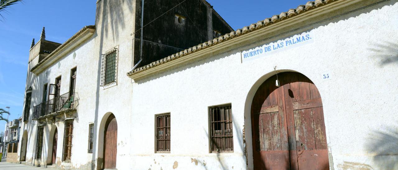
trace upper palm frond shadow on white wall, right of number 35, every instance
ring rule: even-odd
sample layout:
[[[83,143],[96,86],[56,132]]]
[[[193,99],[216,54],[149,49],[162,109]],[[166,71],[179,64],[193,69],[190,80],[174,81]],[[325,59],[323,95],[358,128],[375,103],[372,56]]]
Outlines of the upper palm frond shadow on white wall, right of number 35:
[[[369,48],[374,55],[372,57],[380,58],[379,65],[384,67],[387,64],[398,64],[398,44],[385,42],[383,44],[376,44],[374,47]]]

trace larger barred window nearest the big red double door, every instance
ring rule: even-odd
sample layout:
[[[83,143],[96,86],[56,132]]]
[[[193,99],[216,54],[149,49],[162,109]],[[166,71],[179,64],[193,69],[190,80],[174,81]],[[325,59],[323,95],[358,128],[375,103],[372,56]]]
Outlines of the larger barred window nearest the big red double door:
[[[212,153],[233,152],[231,105],[209,108],[210,113],[210,146]]]

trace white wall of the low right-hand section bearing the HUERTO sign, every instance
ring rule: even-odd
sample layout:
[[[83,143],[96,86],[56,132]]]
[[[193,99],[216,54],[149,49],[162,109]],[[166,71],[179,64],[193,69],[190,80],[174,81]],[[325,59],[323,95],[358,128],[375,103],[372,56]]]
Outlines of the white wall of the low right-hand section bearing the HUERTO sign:
[[[171,169],[176,161],[179,169],[246,169],[242,144],[246,127],[251,169],[251,100],[277,66],[278,71],[306,75],[318,87],[330,166],[398,168],[398,151],[392,149],[397,144],[391,142],[398,139],[398,32],[394,31],[398,17],[391,17],[396,12],[398,3],[387,1],[303,27],[314,43],[241,63],[240,50],[272,42],[262,41],[137,81],[131,113],[131,167]],[[324,81],[323,74],[330,79]],[[208,107],[225,103],[232,104],[234,153],[216,155],[209,153]],[[171,153],[157,154],[154,115],[165,112],[171,113]],[[380,145],[378,151],[375,145]],[[386,154],[390,156],[376,156]]]

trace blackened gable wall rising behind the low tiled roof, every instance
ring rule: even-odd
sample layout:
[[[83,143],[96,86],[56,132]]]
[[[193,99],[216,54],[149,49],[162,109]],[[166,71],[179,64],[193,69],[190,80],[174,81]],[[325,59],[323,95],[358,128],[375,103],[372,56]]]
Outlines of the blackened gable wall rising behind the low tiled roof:
[[[144,25],[167,12],[183,0],[145,0]],[[136,31],[141,27],[141,1],[137,0]],[[182,23],[178,17],[185,17]],[[222,35],[232,31],[213,14],[214,29]],[[140,31],[135,33],[134,63],[140,60]],[[187,0],[143,28],[142,62],[139,66],[165,58],[181,50],[208,41],[207,4],[202,0]],[[150,41],[150,42],[148,42]]]

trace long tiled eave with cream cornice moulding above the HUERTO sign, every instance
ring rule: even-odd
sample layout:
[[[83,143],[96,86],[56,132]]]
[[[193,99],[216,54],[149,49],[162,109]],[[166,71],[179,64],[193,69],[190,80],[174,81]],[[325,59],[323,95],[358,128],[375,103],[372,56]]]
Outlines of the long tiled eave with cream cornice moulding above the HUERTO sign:
[[[245,44],[253,43],[253,39],[264,39],[264,35],[272,35],[281,30],[290,30],[294,25],[301,25],[305,21],[316,22],[317,17],[328,14],[358,2],[367,0],[316,0],[300,5],[297,9],[290,9],[280,15],[273,15],[263,21],[253,23],[229,34],[222,35],[208,42],[193,46],[181,52],[152,62],[127,73],[135,81],[156,73],[167,71],[171,68],[203,60],[204,58],[220,54],[231,48],[239,48]],[[312,23],[311,22],[311,23]],[[250,39],[247,39],[250,36]]]

